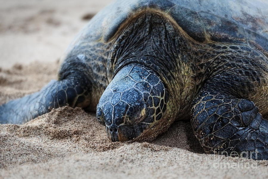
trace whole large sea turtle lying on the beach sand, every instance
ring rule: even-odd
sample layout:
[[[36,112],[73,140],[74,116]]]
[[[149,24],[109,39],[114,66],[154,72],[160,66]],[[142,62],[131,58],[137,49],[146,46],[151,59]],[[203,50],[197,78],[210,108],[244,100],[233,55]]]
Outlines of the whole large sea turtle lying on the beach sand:
[[[205,152],[268,159],[267,9],[261,0],[114,1],[68,47],[58,80],[3,104],[0,121],[69,105],[96,111],[110,140],[136,141],[191,120]]]

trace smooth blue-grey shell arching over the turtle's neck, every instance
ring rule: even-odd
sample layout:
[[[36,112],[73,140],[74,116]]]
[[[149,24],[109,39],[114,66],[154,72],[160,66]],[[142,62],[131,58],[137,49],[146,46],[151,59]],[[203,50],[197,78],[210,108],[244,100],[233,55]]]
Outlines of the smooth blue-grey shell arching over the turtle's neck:
[[[77,40],[107,42],[132,16],[146,9],[173,18],[196,41],[251,45],[268,54],[265,0],[117,0],[96,14]]]

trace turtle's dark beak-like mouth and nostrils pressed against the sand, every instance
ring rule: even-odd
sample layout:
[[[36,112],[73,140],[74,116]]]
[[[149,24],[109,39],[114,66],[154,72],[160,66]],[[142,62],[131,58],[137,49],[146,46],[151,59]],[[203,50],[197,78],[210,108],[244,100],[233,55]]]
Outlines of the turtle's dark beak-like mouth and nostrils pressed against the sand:
[[[119,126],[111,124],[110,126],[106,126],[107,136],[113,142],[136,141],[144,137],[148,129],[150,129],[150,124],[147,123],[139,123],[135,126],[128,126],[126,124]]]

